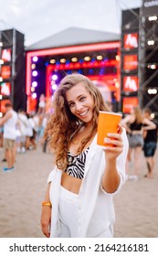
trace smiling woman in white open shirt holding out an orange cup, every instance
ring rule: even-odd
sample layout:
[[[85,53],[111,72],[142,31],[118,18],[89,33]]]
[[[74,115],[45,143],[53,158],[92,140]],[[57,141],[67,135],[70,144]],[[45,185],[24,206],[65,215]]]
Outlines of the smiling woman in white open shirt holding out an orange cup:
[[[42,204],[47,237],[113,236],[112,197],[125,179],[128,141],[119,126],[118,133],[105,138],[112,147],[97,145],[99,111],[109,109],[87,77],[61,80],[45,132],[55,162]]]

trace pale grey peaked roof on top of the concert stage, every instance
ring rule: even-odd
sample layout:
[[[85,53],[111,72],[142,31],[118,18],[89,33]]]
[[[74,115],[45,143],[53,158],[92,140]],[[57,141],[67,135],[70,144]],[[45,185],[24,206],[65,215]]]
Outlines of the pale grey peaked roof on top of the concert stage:
[[[120,39],[121,35],[111,32],[69,27],[27,47],[26,51],[118,41]]]

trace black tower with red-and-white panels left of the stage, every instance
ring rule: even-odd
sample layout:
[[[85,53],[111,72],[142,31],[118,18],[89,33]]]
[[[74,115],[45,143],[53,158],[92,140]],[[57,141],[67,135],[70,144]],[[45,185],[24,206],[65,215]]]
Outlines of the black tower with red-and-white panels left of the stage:
[[[0,93],[2,100],[12,101],[16,111],[26,110],[24,40],[24,35],[16,29],[0,31]]]

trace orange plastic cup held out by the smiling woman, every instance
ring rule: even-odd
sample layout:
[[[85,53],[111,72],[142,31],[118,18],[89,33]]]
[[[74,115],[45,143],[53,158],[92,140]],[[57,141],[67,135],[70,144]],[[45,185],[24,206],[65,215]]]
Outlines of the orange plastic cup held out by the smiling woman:
[[[100,112],[98,123],[97,144],[101,146],[112,146],[105,144],[107,133],[118,133],[118,124],[121,122],[121,114],[115,112]]]

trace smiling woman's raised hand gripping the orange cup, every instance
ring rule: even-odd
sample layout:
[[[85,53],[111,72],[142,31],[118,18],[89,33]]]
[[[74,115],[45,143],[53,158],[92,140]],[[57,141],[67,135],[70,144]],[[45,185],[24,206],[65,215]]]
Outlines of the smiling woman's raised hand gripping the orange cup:
[[[122,131],[122,126],[119,124],[118,133],[108,133],[108,137],[105,138],[104,143],[106,146],[104,151],[106,160],[116,160],[116,158],[121,155],[123,150],[123,143],[121,139]]]

